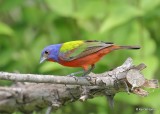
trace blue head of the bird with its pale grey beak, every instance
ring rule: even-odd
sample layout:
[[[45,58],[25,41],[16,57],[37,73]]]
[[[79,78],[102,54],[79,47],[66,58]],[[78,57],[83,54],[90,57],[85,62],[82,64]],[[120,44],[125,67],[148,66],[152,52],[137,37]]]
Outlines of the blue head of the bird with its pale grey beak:
[[[58,53],[61,44],[49,45],[42,50],[40,63],[45,60],[58,62]]]

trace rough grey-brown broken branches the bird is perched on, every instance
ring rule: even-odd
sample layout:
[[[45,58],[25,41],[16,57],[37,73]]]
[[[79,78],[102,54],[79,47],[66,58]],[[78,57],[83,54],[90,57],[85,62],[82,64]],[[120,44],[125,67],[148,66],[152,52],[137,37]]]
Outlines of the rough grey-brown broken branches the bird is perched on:
[[[147,96],[142,87],[157,88],[158,80],[147,80],[140,73],[144,64],[134,66],[128,58],[123,65],[101,74],[87,77],[66,77],[0,72],[0,79],[16,81],[11,87],[0,87],[0,112],[19,110],[29,113],[51,107],[60,108],[67,102],[85,101],[105,95],[111,106],[118,92]]]

